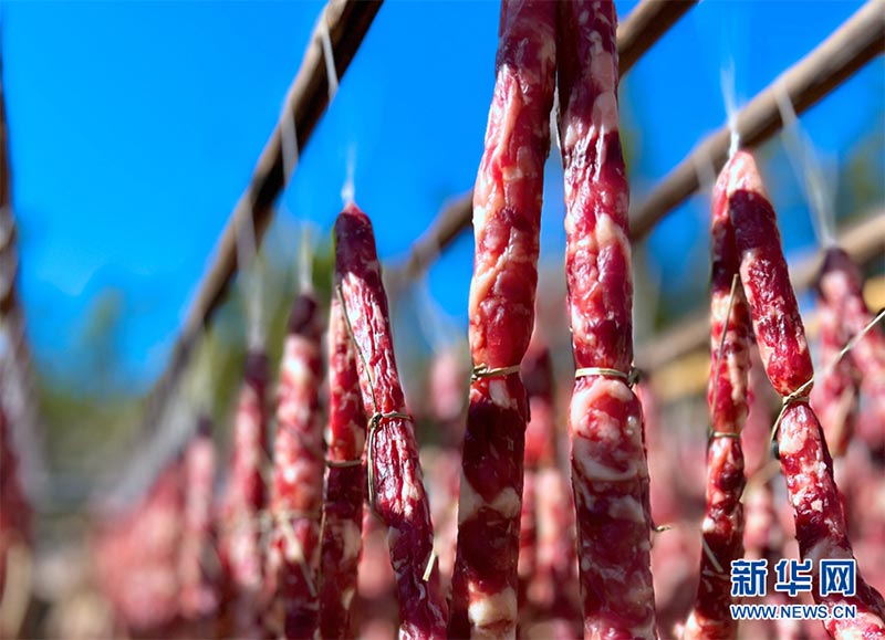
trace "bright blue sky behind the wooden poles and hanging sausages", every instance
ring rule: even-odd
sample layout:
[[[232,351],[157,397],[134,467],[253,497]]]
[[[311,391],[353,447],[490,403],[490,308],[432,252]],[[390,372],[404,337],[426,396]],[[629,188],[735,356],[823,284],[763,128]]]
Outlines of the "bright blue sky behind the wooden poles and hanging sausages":
[[[634,4],[617,2],[620,14]],[[738,96],[749,98],[860,6],[707,0],[693,9],[622,87],[636,141],[633,199],[723,124],[723,65],[733,62]],[[21,286],[43,367],[75,371],[72,345],[96,296],[116,287],[126,304],[126,366],[145,385],[160,370],[321,9],[321,2],[260,1],[2,3]],[[327,233],[352,157],[356,200],[375,221],[382,255],[404,252],[447,198],[472,186],[494,81],[497,21],[497,2],[387,2],[301,155],[283,217]],[[835,165],[871,127],[882,128],[884,104],[879,57],[802,125]],[[881,136],[875,153],[881,158]],[[561,175],[555,161],[549,166],[543,255],[560,261]],[[789,171],[781,172],[789,181]],[[782,214],[788,249],[808,250],[808,214],[790,198]],[[693,248],[702,244],[705,218],[696,198],[656,231],[655,262],[665,280],[706,277],[686,258],[693,251],[702,258]],[[298,246],[289,251],[294,262]],[[471,239],[461,239],[430,273],[434,296],[461,322],[471,251]]]

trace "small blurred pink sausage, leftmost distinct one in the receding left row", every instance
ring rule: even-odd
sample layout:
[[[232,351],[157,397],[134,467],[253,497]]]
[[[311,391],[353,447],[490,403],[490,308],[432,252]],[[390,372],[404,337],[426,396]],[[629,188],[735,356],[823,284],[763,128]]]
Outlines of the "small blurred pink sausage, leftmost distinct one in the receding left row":
[[[208,563],[215,550],[212,486],[215,484],[212,424],[202,416],[185,452],[185,524],[179,552],[181,616],[205,621],[218,609],[218,592]]]

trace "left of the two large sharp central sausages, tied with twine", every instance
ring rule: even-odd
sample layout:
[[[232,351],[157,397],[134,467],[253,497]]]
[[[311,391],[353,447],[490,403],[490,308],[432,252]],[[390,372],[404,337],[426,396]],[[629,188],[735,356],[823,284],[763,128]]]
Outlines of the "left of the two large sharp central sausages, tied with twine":
[[[513,637],[525,390],[534,322],[543,168],[550,150],[555,11],[501,4],[496,85],[473,190],[470,385],[449,634]]]

